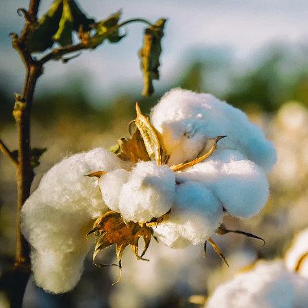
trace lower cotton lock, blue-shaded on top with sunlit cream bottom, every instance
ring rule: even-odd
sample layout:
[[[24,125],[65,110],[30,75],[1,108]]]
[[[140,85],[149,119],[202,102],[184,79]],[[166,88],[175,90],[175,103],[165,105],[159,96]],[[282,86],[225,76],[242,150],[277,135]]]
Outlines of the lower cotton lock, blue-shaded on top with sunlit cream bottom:
[[[175,205],[166,221],[153,230],[167,246],[181,248],[185,242],[204,243],[222,222],[222,205],[198,182],[177,185]]]

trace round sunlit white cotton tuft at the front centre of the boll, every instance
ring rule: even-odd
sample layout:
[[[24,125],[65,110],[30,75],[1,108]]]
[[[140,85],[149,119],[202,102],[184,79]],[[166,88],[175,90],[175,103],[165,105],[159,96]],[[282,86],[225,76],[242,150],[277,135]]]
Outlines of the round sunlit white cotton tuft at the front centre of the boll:
[[[174,172],[155,162],[138,162],[120,192],[119,209],[125,220],[146,222],[166,214],[174,198]]]

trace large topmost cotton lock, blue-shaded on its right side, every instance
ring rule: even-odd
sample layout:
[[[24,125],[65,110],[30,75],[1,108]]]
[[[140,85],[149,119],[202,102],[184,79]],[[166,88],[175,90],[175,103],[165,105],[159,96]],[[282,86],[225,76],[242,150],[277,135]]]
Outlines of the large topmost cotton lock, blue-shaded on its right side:
[[[194,159],[209,138],[227,135],[218,149],[233,149],[268,171],[276,152],[264,133],[246,115],[211,94],[175,88],[151,112],[151,123],[162,133],[170,154],[168,164]]]

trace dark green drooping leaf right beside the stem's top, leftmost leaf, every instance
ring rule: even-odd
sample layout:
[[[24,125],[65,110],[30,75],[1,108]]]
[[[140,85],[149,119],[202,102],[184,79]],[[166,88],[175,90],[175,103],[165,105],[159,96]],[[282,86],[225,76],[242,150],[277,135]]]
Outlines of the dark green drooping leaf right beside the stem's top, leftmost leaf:
[[[53,45],[53,35],[59,28],[63,2],[55,0],[44,14],[27,39],[27,47],[31,53],[42,52]]]

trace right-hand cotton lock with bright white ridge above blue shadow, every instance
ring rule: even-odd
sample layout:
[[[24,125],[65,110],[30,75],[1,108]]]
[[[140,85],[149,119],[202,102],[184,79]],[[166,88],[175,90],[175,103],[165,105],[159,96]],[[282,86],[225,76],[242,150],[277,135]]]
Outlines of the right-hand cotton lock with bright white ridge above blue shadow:
[[[220,150],[202,163],[177,172],[177,181],[201,181],[232,216],[257,214],[268,200],[268,180],[257,164],[238,151]]]

